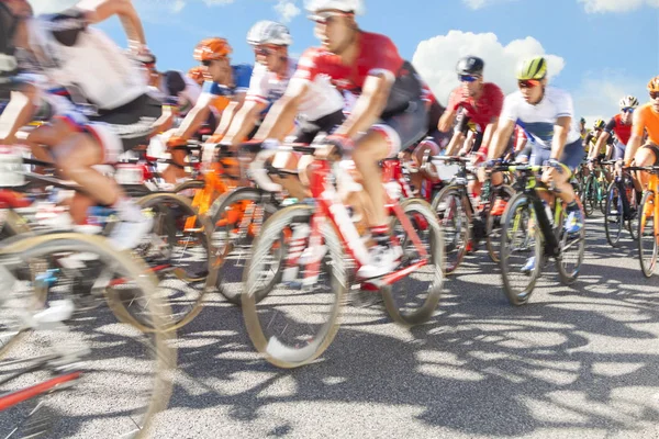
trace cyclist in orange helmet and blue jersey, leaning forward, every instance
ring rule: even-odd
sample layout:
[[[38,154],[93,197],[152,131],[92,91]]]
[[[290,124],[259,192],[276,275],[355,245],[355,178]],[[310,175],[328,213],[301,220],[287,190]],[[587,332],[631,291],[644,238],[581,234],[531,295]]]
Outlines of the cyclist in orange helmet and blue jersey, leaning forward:
[[[169,183],[176,183],[187,178],[185,166],[186,150],[178,149],[187,145],[199,128],[214,115],[220,120],[216,133],[224,133],[233,115],[241,110],[252,77],[252,66],[231,65],[228,56],[232,48],[224,38],[212,37],[201,41],[194,48],[194,59],[205,67],[211,80],[203,83],[201,95],[194,108],[188,113],[181,125],[171,133],[167,140],[171,159],[177,166],[169,166],[163,172],[163,178]],[[221,119],[220,119],[221,117]]]

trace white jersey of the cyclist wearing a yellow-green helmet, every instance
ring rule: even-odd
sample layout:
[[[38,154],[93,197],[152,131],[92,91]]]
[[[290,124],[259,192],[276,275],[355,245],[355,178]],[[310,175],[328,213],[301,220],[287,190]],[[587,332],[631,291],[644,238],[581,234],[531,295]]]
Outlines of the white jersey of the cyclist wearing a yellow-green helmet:
[[[527,135],[533,137],[532,140],[536,145],[544,149],[551,149],[556,121],[566,116],[572,117],[572,125],[566,140],[566,145],[570,145],[581,139],[574,119],[572,97],[567,91],[547,87],[545,97],[536,105],[526,102],[518,90],[506,95],[500,119],[515,121]]]

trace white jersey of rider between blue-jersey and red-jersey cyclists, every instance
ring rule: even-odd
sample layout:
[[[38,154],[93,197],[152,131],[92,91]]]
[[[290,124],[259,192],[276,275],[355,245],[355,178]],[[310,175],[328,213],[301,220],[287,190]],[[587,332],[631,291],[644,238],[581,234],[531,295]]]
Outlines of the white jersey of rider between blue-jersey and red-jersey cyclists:
[[[289,58],[287,75],[284,78],[280,78],[257,63],[245,99],[271,105],[286,93],[297,68],[298,63]],[[342,94],[328,78],[319,77],[309,86],[310,90],[300,104],[298,114],[300,121],[317,121],[344,108],[345,102]]]

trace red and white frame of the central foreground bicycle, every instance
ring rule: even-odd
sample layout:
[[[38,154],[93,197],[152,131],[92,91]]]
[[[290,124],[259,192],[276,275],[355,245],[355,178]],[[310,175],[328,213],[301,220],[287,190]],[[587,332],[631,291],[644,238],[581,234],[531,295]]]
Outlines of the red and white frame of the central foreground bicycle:
[[[330,221],[334,226],[334,229],[336,230],[344,249],[347,251],[350,258],[355,260],[357,268],[359,268],[368,262],[369,250],[366,247],[366,244],[361,240],[359,233],[357,232],[357,227],[355,227],[355,224],[353,224],[348,210],[343,202],[338,200],[338,195],[333,183],[334,178],[332,176],[332,162],[328,160],[316,159],[313,164],[313,167],[314,172],[311,180],[311,192],[316,201],[317,209],[314,212],[311,221],[310,247],[321,241],[321,225],[323,222]],[[403,172],[398,160],[383,161],[382,181],[398,181],[401,184],[402,193],[405,195],[411,194],[410,188],[406,185],[406,182],[404,182]],[[420,261],[412,263],[402,270],[384,275],[378,281],[379,284],[390,285],[405,278],[411,272],[427,264],[429,256],[421,243],[421,238],[416,234],[416,230],[414,230],[412,223],[403,212],[398,201],[392,200],[389,194],[387,194],[384,205],[389,213],[400,221],[405,233],[422,257]],[[395,239],[395,237],[392,239]],[[320,261],[312,263],[308,269],[306,277],[309,278],[310,275],[317,275],[319,269]]]

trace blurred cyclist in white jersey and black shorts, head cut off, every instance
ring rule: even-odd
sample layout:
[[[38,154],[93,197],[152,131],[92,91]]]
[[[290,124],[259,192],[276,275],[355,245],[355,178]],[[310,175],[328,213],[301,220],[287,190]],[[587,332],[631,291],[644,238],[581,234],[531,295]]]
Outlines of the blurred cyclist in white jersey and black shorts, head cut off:
[[[121,222],[111,238],[119,248],[134,247],[150,229],[152,219],[112,179],[92,167],[113,162],[124,150],[146,144],[160,115],[160,104],[149,98],[137,65],[90,24],[119,15],[131,50],[148,55],[135,8],[130,1],[82,1],[62,13],[30,19],[32,11],[24,0],[2,0],[1,5],[2,59],[11,58],[14,46],[30,52],[42,72],[64,86],[77,105],[76,111],[52,123],[56,145],[51,151],[58,168],[82,185],[94,202],[116,210]],[[21,116],[23,111],[19,111]],[[8,143],[11,133],[2,137]]]

